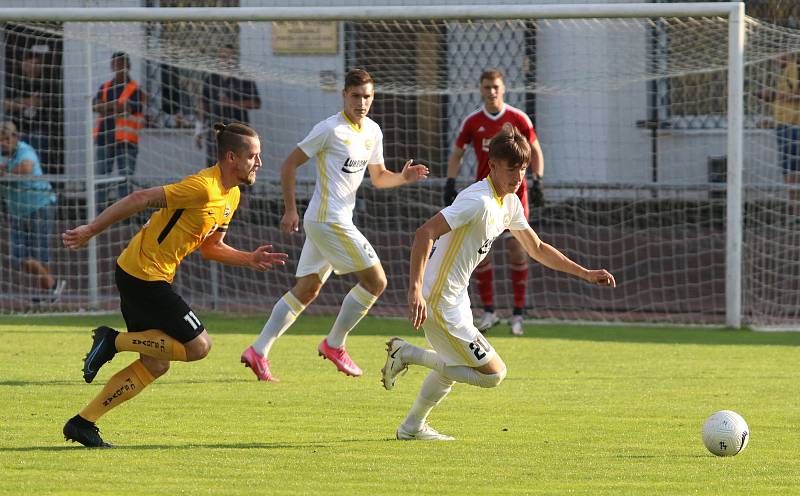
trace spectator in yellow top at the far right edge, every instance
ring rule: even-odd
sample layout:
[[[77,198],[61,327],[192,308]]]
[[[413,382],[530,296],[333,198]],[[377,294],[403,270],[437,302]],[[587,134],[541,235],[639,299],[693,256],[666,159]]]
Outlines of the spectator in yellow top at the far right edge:
[[[775,131],[778,154],[786,184],[800,185],[800,60],[788,56],[781,61],[782,71],[775,92]],[[800,191],[789,193],[788,215],[800,215]]]

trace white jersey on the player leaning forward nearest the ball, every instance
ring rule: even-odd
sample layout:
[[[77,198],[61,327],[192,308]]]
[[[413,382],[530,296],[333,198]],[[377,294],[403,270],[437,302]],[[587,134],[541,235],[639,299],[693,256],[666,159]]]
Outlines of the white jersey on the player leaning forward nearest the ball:
[[[423,279],[423,295],[431,305],[443,300],[457,305],[466,295],[469,278],[486,258],[492,242],[504,230],[528,229],[528,221],[517,195],[500,198],[489,177],[458,194],[441,211],[451,231],[433,245]]]

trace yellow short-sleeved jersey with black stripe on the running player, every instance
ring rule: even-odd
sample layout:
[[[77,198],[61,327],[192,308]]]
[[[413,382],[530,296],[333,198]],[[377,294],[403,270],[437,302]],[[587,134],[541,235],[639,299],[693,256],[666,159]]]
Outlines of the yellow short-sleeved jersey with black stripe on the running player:
[[[181,260],[216,231],[224,232],[239,206],[239,187],[226,190],[218,165],[164,186],[167,206],[128,243],[117,264],[144,281],[172,282]]]

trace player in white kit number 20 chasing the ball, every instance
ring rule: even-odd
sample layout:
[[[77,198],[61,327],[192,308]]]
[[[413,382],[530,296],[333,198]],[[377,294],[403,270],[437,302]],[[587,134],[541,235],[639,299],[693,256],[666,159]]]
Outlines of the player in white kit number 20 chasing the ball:
[[[453,383],[491,388],[505,378],[503,360],[472,323],[467,292],[470,274],[505,229],[537,262],[600,286],[616,286],[609,272],[581,267],[542,242],[528,225],[514,192],[525,178],[530,154],[528,140],[511,125],[503,127],[489,145],[486,179],[463,190],[452,205],[417,229],[411,248],[409,320],[415,329],[422,326],[433,350],[397,337],[390,339],[383,386],[392,389],[409,365],[421,365],[431,372],[398,427],[397,439],[452,440],[431,428],[426,419]]]

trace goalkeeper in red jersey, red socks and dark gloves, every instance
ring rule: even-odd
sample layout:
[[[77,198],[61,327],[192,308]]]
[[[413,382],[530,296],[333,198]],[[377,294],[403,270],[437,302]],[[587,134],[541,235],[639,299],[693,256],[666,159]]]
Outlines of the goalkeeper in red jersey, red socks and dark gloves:
[[[444,203],[449,205],[456,197],[456,177],[461,168],[461,160],[468,144],[475,150],[478,167],[475,180],[480,181],[489,174],[489,142],[503,125],[509,123],[518,129],[530,142],[532,155],[530,168],[533,172],[533,189],[531,203],[534,207],[544,205],[544,195],[541,189],[541,178],[544,174],[544,157],[539,146],[539,140],[533,129],[528,115],[522,110],[512,107],[504,102],[505,83],[503,74],[497,69],[488,69],[481,74],[480,90],[483,105],[464,119],[461,130],[456,138],[453,153],[447,164],[447,183],[445,185]],[[528,185],[522,181],[519,191],[516,192],[522,202],[525,218],[529,218],[528,211]],[[511,317],[511,332],[514,335],[523,334],[522,316],[525,309],[525,297],[528,280],[528,255],[512,236],[504,236],[511,262],[511,286],[514,295],[514,310]],[[475,269],[474,277],[478,282],[478,294],[483,303],[483,315],[478,323],[478,329],[486,332],[497,324],[500,319],[495,314],[494,307],[494,269],[491,258],[487,257]]]

